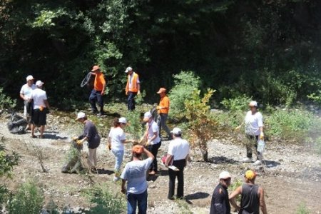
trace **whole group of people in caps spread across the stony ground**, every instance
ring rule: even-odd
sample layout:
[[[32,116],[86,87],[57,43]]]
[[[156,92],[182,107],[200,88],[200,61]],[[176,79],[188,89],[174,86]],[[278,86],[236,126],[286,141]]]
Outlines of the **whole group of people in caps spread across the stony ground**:
[[[140,92],[140,81],[138,74],[133,72],[133,68],[126,68],[125,73],[128,74],[126,83],[126,95],[128,96],[128,110],[135,109],[135,96]],[[93,113],[98,113],[96,102],[100,107],[97,116],[102,116],[103,111],[103,94],[105,93],[106,81],[103,78],[103,73],[99,66],[93,66],[91,75],[95,76],[93,89],[89,96],[91,110]],[[27,76],[26,84],[21,87],[20,96],[24,99],[24,116],[26,116],[31,129],[31,137],[37,138],[34,135],[36,126],[40,127],[39,138],[44,138],[44,128],[46,125],[46,113],[49,112],[49,102],[47,100],[46,91],[42,90],[44,83],[36,81],[34,77]],[[136,213],[138,205],[139,213],[146,213],[147,210],[147,180],[146,174],[156,175],[158,173],[158,149],[161,147],[161,128],[167,133],[168,139],[171,140],[168,146],[168,153],[165,156],[164,164],[168,167],[169,183],[168,183],[168,199],[183,198],[184,195],[184,168],[189,158],[190,146],[188,141],[182,138],[180,128],[173,128],[170,131],[166,121],[168,120],[168,112],[170,109],[170,101],[166,95],[166,89],[160,88],[157,92],[161,101],[157,106],[158,121],[154,121],[151,111],[144,114],[143,121],[146,122],[146,131],[140,141],[128,140],[126,138],[125,128],[127,124],[126,118],[115,118],[113,127],[108,134],[107,149],[115,156],[115,175],[113,180],[122,180],[121,192],[126,193],[128,200],[128,213]],[[258,140],[264,138],[263,133],[263,116],[258,112],[258,103],[251,101],[250,111],[245,116],[245,134],[248,138],[246,144],[247,157],[243,162],[253,162],[253,150],[255,146],[258,148]],[[73,137],[73,140],[78,144],[88,142],[88,165],[92,171],[97,170],[97,148],[101,143],[101,136],[94,123],[88,120],[86,113],[79,112],[76,121],[83,123],[83,133],[81,136]],[[240,127],[238,127],[240,128]],[[121,173],[121,165],[125,153],[125,143],[133,143],[132,161],[126,163],[125,168]],[[256,151],[257,161],[254,165],[262,164],[262,153]],[[178,179],[177,194],[175,195],[175,180]],[[261,207],[263,213],[267,213],[264,202],[263,188],[255,185],[256,173],[253,170],[248,170],[245,173],[245,184],[228,195],[228,186],[230,185],[230,174],[228,172],[220,173],[219,184],[215,188],[210,207],[210,213],[230,213],[230,203],[240,213],[258,213],[258,207]],[[127,187],[126,187],[127,184]],[[237,195],[242,195],[241,204],[238,206],[234,198]]]

